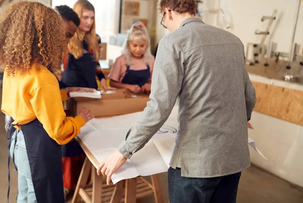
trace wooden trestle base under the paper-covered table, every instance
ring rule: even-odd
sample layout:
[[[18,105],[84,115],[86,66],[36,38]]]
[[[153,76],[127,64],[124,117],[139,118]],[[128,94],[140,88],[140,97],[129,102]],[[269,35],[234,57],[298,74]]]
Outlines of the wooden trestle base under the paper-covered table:
[[[85,203],[135,203],[137,198],[154,194],[156,203],[163,203],[163,194],[159,180],[159,174],[151,175],[151,184],[143,177],[127,179],[118,182],[116,185],[106,185],[104,176],[98,176],[96,166],[98,161],[88,151],[80,139],[86,158],[80,173],[72,203],[82,199]],[[92,186],[86,185],[89,174],[91,174]]]

